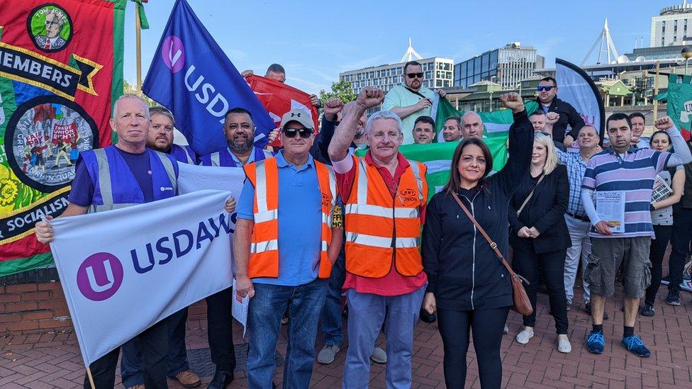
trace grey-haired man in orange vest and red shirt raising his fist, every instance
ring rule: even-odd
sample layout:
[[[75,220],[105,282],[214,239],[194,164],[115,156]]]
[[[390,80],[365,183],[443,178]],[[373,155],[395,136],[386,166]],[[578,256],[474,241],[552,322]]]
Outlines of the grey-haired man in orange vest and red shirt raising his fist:
[[[367,388],[370,353],[386,317],[388,388],[411,386],[413,327],[428,279],[418,243],[425,217],[428,184],[425,165],[398,152],[401,119],[390,111],[374,113],[365,133],[365,157],[348,152],[357,123],[384,99],[366,88],[344,108],[329,145],[329,157],[344,203],[348,351],[344,388]]]

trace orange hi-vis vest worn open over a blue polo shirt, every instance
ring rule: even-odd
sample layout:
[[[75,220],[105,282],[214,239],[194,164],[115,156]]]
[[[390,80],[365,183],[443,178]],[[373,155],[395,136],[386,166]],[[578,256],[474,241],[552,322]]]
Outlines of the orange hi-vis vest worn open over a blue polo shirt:
[[[336,179],[330,167],[313,161],[322,193],[322,250],[319,278],[329,278],[332,264],[327,249],[332,239],[332,212],[337,198]],[[246,164],[245,174],[255,186],[255,227],[252,230],[250,260],[247,274],[250,278],[279,276],[279,167],[272,157]],[[298,228],[299,226],[296,226]],[[284,239],[290,239],[285,237]]]

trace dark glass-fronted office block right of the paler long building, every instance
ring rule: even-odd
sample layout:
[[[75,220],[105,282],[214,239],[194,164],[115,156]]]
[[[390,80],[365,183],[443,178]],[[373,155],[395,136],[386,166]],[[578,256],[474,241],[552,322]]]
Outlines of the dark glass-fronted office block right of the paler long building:
[[[468,88],[479,81],[493,81],[504,89],[514,88],[519,81],[545,66],[545,58],[530,46],[512,42],[499,49],[454,65],[454,86]]]

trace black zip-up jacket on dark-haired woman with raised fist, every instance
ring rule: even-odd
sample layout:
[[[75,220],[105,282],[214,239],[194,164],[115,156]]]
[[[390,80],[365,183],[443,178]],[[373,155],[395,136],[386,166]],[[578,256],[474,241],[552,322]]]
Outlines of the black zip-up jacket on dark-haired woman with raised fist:
[[[520,178],[528,173],[533,149],[533,128],[525,111],[514,115],[509,137],[505,167],[486,178],[481,187],[457,191],[505,258],[508,204]],[[425,210],[422,246],[427,291],[435,293],[437,307],[474,310],[513,304],[508,271],[459,204],[444,191],[432,196]]]

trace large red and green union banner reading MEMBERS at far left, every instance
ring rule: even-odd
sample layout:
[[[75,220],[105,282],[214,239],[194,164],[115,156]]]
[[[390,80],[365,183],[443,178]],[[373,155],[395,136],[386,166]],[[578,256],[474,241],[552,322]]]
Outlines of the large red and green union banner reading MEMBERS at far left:
[[[127,0],[0,0],[0,276],[52,263],[79,152],[111,144]]]

